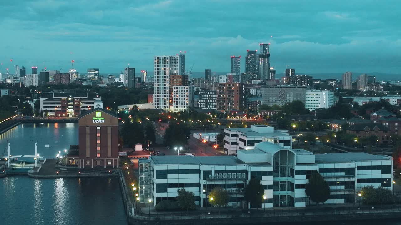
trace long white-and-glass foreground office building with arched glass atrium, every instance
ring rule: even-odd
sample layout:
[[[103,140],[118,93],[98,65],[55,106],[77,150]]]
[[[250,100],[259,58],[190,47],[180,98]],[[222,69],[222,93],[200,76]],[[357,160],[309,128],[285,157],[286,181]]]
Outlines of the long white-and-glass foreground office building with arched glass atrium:
[[[392,158],[368,153],[326,153],[314,155],[304,149],[288,149],[271,141],[253,150],[239,150],[235,156],[151,156],[139,160],[140,199],[154,205],[177,197],[183,187],[195,196],[195,204],[210,207],[214,187],[225,189],[229,207],[251,207],[243,196],[249,180],[258,179],[263,201],[254,208],[316,206],[305,193],[314,171],[328,182],[326,204],[355,203],[362,187],[392,190]],[[193,179],[191,179],[193,178]],[[195,179],[196,178],[196,179]],[[143,184],[143,186],[142,186]]]

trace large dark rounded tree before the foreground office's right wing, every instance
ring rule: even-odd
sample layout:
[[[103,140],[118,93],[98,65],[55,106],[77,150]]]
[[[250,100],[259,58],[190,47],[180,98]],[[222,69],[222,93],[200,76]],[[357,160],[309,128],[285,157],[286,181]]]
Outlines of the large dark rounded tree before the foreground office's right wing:
[[[317,171],[313,171],[305,187],[306,196],[310,200],[318,203],[324,203],[330,197],[328,183]]]

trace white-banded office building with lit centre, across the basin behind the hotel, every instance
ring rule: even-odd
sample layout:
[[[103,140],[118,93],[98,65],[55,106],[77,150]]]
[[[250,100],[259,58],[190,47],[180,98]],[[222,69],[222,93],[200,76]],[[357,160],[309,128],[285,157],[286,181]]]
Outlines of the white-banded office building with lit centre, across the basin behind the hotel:
[[[39,100],[45,116],[77,117],[87,110],[103,108],[100,97],[90,97],[88,93],[54,92],[52,97]]]

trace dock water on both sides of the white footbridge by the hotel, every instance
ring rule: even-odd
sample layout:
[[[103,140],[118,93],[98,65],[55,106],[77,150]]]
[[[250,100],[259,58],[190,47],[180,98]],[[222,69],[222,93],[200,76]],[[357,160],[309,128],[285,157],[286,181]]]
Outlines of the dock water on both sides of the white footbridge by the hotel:
[[[12,155],[33,155],[37,141],[38,153],[54,158],[77,144],[77,131],[75,123],[22,124],[0,135],[0,150],[8,140]],[[1,224],[128,224],[117,177],[4,177],[0,196]]]

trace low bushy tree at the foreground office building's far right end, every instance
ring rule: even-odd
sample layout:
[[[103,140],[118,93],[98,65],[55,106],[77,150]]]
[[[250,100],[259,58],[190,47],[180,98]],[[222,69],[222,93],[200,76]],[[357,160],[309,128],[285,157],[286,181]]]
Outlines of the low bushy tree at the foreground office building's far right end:
[[[388,181],[391,182],[391,181]],[[393,204],[394,198],[390,189],[384,187],[375,188],[372,185],[363,187],[360,194],[365,205]]]

